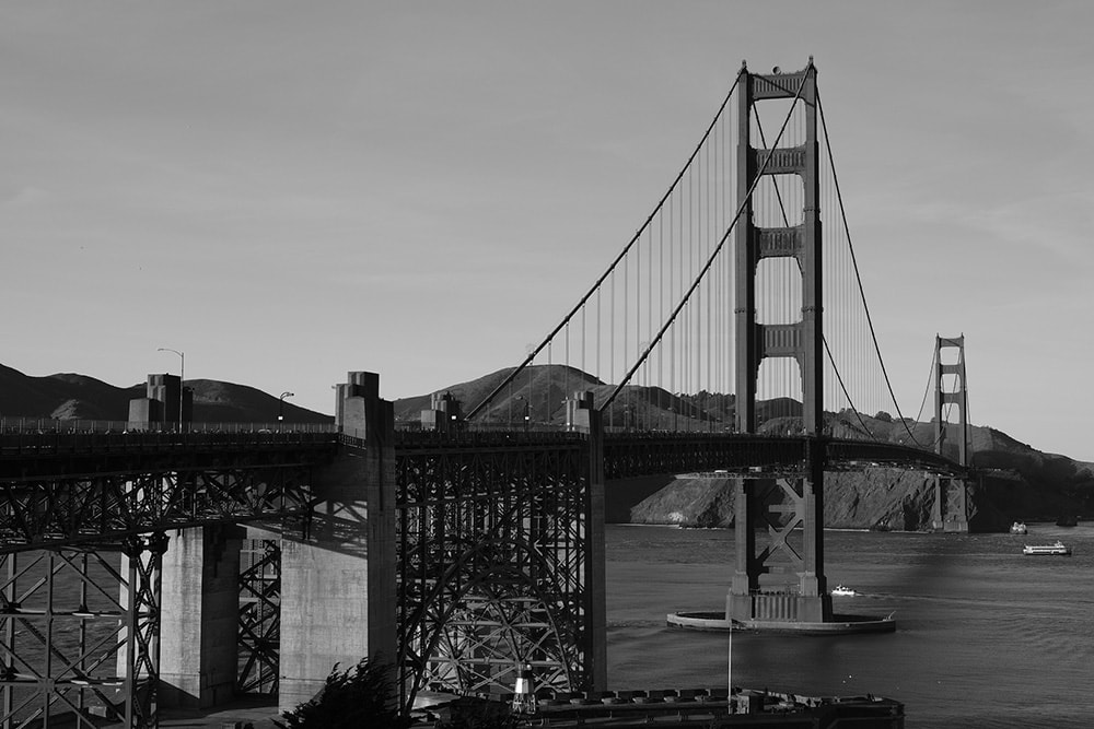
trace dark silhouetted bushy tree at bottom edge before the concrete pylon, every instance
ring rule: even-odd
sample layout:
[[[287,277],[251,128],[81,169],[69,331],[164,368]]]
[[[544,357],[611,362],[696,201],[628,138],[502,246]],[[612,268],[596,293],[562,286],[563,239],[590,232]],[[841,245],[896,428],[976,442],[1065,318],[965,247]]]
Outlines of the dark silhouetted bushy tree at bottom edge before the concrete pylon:
[[[359,729],[376,727],[398,729],[408,722],[399,716],[391,667],[362,658],[357,666],[339,671],[330,669],[326,685],[314,698],[298,704],[275,720],[281,729]]]

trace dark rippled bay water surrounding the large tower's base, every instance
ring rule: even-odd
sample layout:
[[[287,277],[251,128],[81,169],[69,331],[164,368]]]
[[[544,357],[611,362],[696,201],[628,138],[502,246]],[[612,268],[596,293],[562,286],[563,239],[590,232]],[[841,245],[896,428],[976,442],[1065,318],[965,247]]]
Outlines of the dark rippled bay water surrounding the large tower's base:
[[[1023,556],[1025,543],[1071,557]],[[680,610],[723,610],[732,530],[607,527],[608,687],[721,686],[725,633],[668,628]],[[896,633],[737,633],[733,683],[904,702],[908,727],[1094,726],[1094,526],[1029,534],[828,531],[826,574],[860,596],[837,612],[895,613]]]

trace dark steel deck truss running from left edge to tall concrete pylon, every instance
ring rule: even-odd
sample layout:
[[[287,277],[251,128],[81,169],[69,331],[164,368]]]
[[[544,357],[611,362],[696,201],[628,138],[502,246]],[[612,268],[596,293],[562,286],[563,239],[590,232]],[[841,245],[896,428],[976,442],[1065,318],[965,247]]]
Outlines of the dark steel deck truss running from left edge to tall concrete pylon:
[[[306,515],[312,469],[336,447],[330,434],[0,436],[0,551]]]

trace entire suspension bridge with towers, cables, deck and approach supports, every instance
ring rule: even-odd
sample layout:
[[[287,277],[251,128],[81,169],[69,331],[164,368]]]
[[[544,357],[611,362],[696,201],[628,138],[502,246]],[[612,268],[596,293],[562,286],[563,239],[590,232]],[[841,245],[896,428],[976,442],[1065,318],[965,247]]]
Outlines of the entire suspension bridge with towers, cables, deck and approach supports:
[[[241,691],[291,707],[361,656],[397,665],[407,706],[522,667],[603,690],[604,487],[635,475],[732,483],[726,621],[831,623],[825,473],[921,472],[967,529],[963,343],[936,339],[924,434],[881,357],[817,70],[743,66],[621,252],[466,416],[437,397],[396,428],[354,372],[329,432],[0,436],[0,726],[151,727]]]

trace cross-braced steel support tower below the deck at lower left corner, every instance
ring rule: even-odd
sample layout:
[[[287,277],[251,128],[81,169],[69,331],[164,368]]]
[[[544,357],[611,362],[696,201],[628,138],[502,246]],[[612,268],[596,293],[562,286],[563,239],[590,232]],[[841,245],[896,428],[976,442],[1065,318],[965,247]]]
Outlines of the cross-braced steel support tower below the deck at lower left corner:
[[[165,544],[0,554],[0,727],[158,726]]]

